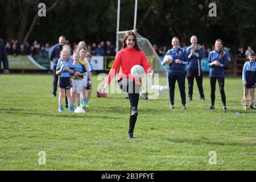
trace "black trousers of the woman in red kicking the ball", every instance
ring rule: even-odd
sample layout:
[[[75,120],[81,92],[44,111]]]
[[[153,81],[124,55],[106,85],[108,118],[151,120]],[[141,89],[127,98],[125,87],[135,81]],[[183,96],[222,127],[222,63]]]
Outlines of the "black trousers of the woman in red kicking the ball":
[[[139,104],[139,85],[135,84],[134,80],[130,80],[127,78],[121,78],[118,80],[119,88],[122,92],[128,92],[129,100],[130,100],[130,114],[131,109],[135,107],[137,110]],[[130,115],[130,122],[129,122],[129,134],[132,134],[134,131],[135,123],[137,121],[137,115]]]

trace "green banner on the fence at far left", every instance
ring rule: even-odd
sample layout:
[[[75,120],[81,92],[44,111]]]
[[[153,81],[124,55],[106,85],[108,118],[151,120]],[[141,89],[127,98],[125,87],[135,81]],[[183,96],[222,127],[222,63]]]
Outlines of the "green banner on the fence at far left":
[[[44,69],[32,56],[11,56],[8,55],[9,69]]]

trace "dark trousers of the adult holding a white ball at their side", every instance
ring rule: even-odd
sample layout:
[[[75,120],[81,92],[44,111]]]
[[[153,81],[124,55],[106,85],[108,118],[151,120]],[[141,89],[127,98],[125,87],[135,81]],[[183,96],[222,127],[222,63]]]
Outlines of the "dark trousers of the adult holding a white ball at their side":
[[[174,105],[174,90],[176,80],[180,89],[180,97],[183,105],[186,104],[186,93],[185,93],[185,72],[168,73],[169,82],[169,94],[171,105]]]

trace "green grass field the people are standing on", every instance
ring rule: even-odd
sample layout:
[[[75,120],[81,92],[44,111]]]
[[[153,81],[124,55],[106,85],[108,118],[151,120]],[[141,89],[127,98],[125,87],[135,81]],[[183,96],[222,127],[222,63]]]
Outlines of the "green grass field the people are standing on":
[[[134,139],[127,139],[125,94],[96,98],[96,76],[92,82],[85,114],[59,113],[51,75],[1,75],[0,170],[256,169],[256,111],[242,110],[240,77],[225,80],[228,113],[222,111],[218,90],[216,109],[208,110],[208,77],[205,101],[195,85],[187,110],[181,110],[177,86],[175,110],[169,110],[167,91],[158,100],[140,100]],[[38,163],[39,151],[47,154],[45,165]],[[217,154],[215,165],[209,164],[210,151]]]

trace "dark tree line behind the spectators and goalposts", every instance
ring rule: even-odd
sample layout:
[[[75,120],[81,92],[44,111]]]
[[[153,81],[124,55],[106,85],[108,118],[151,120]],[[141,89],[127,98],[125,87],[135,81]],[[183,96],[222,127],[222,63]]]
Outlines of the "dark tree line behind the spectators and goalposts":
[[[46,4],[46,17],[38,4]],[[217,16],[209,16],[216,3]],[[60,35],[72,42],[115,42],[117,0],[0,0],[0,36],[20,43],[56,43]],[[151,43],[170,45],[178,36],[189,44],[191,35],[210,47],[221,38],[225,46],[256,48],[255,0],[138,0],[137,30]],[[121,0],[120,29],[133,29],[134,0]]]

